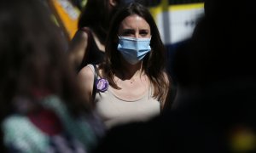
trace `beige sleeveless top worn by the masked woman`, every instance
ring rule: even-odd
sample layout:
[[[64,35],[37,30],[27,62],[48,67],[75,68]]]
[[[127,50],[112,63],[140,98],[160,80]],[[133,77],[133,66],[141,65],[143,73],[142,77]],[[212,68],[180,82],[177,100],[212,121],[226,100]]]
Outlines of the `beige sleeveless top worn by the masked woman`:
[[[93,65],[90,68],[94,71]],[[96,111],[108,128],[127,122],[145,122],[160,115],[160,102],[152,98],[151,88],[132,101],[119,99],[112,91],[111,86],[104,93],[97,91],[95,99]]]

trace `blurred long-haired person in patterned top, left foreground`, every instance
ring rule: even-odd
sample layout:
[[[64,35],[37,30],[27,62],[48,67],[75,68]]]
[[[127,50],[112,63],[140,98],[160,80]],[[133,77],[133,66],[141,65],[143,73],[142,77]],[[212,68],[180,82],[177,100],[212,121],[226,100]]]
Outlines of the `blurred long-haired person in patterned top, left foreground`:
[[[90,152],[104,125],[84,103],[40,0],[0,1],[0,125],[9,152]],[[2,152],[2,150],[1,150]]]

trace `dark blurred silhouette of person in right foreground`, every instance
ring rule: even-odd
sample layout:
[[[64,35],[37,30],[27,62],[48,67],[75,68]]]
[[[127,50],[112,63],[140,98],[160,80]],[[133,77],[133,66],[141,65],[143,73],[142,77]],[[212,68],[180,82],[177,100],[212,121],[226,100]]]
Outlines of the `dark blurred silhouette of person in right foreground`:
[[[172,111],[111,129],[95,152],[256,152],[254,6],[207,0],[174,58]]]

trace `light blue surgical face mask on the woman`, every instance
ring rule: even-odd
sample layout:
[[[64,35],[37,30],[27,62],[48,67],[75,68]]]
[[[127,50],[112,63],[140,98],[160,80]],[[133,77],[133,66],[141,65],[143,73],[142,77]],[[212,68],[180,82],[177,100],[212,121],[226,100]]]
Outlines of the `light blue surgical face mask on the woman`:
[[[151,50],[149,38],[119,37],[117,49],[131,65],[137,64]]]

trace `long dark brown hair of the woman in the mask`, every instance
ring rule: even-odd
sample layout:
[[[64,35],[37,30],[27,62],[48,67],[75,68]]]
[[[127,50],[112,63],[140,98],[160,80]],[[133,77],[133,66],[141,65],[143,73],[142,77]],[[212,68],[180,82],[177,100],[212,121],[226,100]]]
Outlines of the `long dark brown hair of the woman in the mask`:
[[[120,61],[120,54],[117,50],[118,46],[118,29],[122,20],[127,16],[137,14],[148,22],[151,30],[151,51],[143,59],[143,71],[149,77],[150,82],[154,86],[154,98],[165,100],[169,85],[166,80],[164,71],[166,68],[166,48],[161,41],[160,32],[154,22],[154,18],[140,3],[130,3],[126,7],[121,8],[113,17],[108,38],[106,42],[106,56],[105,61],[101,65],[104,77],[107,77],[109,83],[113,88],[118,88],[113,81],[115,71],[122,71],[122,62]]]

